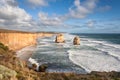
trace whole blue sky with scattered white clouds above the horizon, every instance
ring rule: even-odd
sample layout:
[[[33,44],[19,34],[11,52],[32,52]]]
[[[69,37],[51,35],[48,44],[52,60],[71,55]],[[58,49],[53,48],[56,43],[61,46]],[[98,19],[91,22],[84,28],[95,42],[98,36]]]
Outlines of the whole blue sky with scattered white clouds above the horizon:
[[[120,0],[0,0],[0,29],[120,33]]]

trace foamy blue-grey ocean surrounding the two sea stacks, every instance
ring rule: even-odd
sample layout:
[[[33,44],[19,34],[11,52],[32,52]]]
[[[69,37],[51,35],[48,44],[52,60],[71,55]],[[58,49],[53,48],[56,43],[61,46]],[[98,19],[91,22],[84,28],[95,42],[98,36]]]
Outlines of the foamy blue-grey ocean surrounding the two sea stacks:
[[[80,45],[73,38],[80,37]],[[120,71],[120,34],[64,34],[65,43],[54,43],[55,36],[39,38],[31,58],[47,64],[47,72],[89,73]]]

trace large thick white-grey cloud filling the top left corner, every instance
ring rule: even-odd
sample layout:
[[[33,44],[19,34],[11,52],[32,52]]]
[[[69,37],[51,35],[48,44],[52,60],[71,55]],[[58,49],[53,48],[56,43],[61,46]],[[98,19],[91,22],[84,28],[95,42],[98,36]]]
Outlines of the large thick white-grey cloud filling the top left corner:
[[[15,0],[0,1],[0,27],[14,29],[36,25],[24,9],[19,8]]]

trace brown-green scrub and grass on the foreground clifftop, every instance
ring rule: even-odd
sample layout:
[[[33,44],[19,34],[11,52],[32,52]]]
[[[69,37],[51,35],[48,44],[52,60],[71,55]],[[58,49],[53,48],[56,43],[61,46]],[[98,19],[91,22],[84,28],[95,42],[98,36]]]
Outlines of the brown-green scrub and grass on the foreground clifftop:
[[[120,80],[120,72],[47,73],[29,69],[14,51],[0,43],[0,80]]]

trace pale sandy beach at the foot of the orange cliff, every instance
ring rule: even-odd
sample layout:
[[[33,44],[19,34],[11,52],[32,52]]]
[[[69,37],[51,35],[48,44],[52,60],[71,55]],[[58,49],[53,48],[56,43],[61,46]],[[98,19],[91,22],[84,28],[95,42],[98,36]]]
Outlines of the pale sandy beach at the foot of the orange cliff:
[[[16,52],[17,57],[21,60],[28,61],[28,59],[32,56],[34,51],[36,50],[36,46],[27,46]]]

